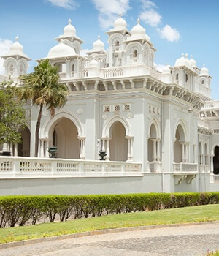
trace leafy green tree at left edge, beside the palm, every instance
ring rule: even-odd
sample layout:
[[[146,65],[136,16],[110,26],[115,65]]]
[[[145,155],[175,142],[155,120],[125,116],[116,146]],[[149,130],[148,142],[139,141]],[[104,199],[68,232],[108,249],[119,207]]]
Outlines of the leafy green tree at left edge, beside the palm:
[[[15,97],[12,82],[0,83],[0,144],[20,143],[19,129],[26,127],[26,112]]]

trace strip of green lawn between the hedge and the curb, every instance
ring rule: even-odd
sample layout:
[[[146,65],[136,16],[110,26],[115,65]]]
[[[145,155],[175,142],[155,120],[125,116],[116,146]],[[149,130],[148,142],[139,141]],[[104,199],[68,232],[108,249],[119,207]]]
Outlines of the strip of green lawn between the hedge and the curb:
[[[0,244],[117,227],[138,227],[219,220],[219,204],[115,214],[67,222],[42,223],[0,229]]]

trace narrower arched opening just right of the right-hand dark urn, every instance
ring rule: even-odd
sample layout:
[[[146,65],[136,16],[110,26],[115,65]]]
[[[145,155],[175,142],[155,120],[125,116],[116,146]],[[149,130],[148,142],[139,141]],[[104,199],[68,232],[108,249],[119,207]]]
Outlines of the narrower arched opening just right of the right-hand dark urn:
[[[128,159],[128,140],[126,129],[120,121],[115,121],[110,127],[110,160],[126,161]]]

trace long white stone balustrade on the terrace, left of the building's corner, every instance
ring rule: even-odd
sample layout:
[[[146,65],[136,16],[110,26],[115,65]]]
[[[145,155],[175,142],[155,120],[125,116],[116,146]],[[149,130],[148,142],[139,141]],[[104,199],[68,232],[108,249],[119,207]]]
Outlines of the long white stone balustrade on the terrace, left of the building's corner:
[[[142,176],[142,165],[134,162],[0,157],[0,178],[36,176]]]

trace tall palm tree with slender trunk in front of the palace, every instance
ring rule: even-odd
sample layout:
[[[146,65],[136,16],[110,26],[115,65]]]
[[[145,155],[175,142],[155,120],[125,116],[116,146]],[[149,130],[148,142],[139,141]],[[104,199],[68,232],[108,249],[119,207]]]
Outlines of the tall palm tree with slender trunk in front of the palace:
[[[34,72],[20,76],[23,86],[20,86],[17,90],[18,99],[31,100],[32,105],[39,106],[34,157],[38,157],[42,108],[47,107],[50,116],[53,118],[55,109],[63,107],[67,101],[69,90],[65,84],[58,83],[59,79],[58,67],[51,65],[48,59],[40,61],[38,66],[34,67]]]

